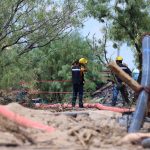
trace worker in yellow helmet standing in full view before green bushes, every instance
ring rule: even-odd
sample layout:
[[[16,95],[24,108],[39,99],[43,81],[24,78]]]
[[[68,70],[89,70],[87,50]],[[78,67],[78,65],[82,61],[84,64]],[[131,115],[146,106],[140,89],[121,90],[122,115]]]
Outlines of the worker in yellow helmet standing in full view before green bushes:
[[[83,108],[83,86],[84,86],[84,72],[86,69],[87,59],[81,58],[72,64],[72,84],[73,97],[72,107],[76,105],[77,95],[79,94],[79,107]]]

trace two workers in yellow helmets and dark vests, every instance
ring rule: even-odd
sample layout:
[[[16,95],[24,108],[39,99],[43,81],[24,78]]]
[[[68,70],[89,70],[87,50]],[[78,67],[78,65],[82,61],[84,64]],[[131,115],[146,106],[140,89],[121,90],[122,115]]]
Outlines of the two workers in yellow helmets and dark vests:
[[[84,87],[84,73],[87,72],[86,64],[87,59],[81,58],[76,60],[72,64],[72,84],[73,84],[73,96],[72,96],[72,107],[75,107],[77,96],[79,94],[79,107],[83,108],[83,87]],[[116,57],[117,65],[128,75],[132,75],[131,70],[127,65],[123,64],[123,58],[121,56]],[[119,91],[123,97],[123,104],[129,104],[128,92],[125,83],[115,75],[116,84],[113,87],[113,97],[111,105],[115,106],[117,103],[117,97]]]

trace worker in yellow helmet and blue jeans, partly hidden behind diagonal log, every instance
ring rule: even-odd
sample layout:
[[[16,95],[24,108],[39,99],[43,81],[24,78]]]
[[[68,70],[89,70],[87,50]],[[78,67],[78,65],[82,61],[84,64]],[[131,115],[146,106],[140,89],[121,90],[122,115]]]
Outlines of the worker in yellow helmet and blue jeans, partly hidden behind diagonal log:
[[[123,58],[121,56],[116,57],[116,63],[117,65],[128,75],[131,76],[132,72],[131,70],[127,67],[127,65],[122,63]],[[116,78],[116,84],[114,84],[113,87],[113,98],[112,98],[112,106],[116,105],[117,102],[117,97],[119,94],[119,91],[121,92],[122,98],[123,98],[123,105],[125,105],[125,102],[129,104],[129,99],[128,99],[128,92],[125,83],[115,75]]]

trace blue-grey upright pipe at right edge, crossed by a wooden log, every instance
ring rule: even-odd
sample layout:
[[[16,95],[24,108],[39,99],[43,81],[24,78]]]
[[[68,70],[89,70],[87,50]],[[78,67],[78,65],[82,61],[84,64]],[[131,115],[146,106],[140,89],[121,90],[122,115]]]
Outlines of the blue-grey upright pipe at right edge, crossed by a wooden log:
[[[145,35],[142,39],[142,53],[143,53],[143,67],[142,67],[142,81],[143,87],[150,87],[150,35]],[[128,132],[138,132],[144,122],[144,116],[147,109],[149,94],[143,90],[139,94],[136,110],[131,121]]]

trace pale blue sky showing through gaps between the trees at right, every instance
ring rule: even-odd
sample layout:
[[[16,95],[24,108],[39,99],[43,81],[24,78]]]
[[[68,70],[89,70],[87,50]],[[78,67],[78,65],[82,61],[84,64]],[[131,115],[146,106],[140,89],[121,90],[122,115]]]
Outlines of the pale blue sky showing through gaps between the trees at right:
[[[93,35],[95,36],[95,38],[97,39],[101,39],[102,38],[102,33],[101,33],[101,28],[102,25],[100,25],[100,23],[93,19],[93,18],[89,18],[85,23],[84,23],[84,27],[83,29],[80,30],[80,33],[83,36],[87,36],[89,34],[89,38],[92,39]],[[113,49],[112,47],[112,43],[109,42],[107,45],[107,57],[114,59],[117,56],[117,49]],[[120,48],[120,56],[123,57],[123,62],[126,63],[128,65],[128,67],[132,70],[135,68],[134,66],[134,56],[133,56],[133,52],[131,51],[130,47],[126,46],[126,44],[124,44],[121,48]]]

